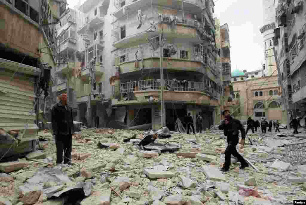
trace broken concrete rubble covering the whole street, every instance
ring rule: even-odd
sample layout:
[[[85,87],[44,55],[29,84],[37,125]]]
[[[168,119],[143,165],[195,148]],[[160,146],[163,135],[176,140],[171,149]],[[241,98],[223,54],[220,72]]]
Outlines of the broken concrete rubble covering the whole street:
[[[73,135],[73,165],[56,165],[51,133],[39,135],[46,139],[41,150],[0,163],[0,204],[248,205],[292,203],[306,195],[306,165],[285,162],[282,147],[304,139],[286,130],[248,134],[237,150],[258,171],[240,170],[232,156],[226,173],[219,171],[226,140],[215,126],[196,135],[82,129]]]

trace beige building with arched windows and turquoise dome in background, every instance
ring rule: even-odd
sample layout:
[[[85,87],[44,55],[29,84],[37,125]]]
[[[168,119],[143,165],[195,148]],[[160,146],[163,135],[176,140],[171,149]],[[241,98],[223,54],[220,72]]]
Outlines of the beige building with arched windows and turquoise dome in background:
[[[234,92],[231,108],[237,119],[246,121],[248,117],[260,120],[280,120],[286,122],[286,114],[282,110],[281,87],[278,76],[250,77],[261,70],[246,72],[234,70],[232,73],[232,86]]]

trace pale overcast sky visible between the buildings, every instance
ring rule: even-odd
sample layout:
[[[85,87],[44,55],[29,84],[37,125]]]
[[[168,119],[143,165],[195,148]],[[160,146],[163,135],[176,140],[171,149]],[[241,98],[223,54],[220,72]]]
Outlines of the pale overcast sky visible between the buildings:
[[[73,8],[79,0],[67,0]],[[81,0],[84,2],[84,0]],[[261,69],[263,63],[263,36],[259,28],[263,26],[261,0],[215,0],[215,14],[220,24],[228,24],[230,29],[232,71]]]

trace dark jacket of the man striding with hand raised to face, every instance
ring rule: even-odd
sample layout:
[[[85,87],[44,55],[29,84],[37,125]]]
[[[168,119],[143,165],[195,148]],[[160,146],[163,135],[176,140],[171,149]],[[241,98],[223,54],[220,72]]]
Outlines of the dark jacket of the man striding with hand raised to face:
[[[229,124],[225,124],[225,120],[221,122],[219,125],[219,129],[224,130],[224,135],[227,136],[227,141],[239,141],[239,130],[241,131],[241,138],[245,139],[245,131],[243,128],[243,125],[239,120],[234,119],[233,117],[230,117]]]

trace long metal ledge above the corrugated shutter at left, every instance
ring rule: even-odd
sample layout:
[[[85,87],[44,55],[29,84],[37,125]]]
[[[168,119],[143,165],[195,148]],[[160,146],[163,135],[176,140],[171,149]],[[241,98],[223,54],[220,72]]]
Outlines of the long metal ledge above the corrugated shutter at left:
[[[0,58],[0,67],[6,68],[11,71],[17,71],[19,73],[25,73],[32,76],[39,76],[41,69],[30,65],[25,65],[15,61],[10,61],[4,58]]]

